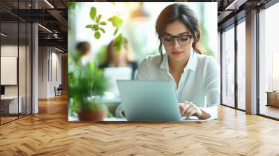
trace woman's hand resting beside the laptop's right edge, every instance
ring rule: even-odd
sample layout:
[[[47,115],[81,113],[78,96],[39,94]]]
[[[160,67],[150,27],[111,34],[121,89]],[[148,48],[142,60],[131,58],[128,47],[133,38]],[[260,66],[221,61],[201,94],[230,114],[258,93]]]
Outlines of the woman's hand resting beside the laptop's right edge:
[[[211,115],[205,111],[202,111],[202,109],[199,109],[193,102],[185,101],[183,103],[179,103],[179,110],[181,113],[181,116],[187,116],[189,118],[190,116],[197,116],[199,119],[206,119],[210,118]]]

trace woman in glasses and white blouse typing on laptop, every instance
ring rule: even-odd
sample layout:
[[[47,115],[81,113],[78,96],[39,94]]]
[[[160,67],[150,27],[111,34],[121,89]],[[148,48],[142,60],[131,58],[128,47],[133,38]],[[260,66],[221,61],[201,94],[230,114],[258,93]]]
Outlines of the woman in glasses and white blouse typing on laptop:
[[[182,3],[164,8],[156,21],[160,55],[146,56],[136,79],[172,81],[181,116],[216,119],[218,65],[199,47],[198,22],[195,12]],[[116,109],[116,116],[125,116],[121,105]]]

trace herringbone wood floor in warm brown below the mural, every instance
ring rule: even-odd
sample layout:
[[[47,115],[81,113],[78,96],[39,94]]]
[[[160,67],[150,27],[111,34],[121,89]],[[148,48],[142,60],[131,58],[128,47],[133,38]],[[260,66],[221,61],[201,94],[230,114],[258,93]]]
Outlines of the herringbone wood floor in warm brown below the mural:
[[[279,155],[279,122],[219,107],[204,123],[68,123],[65,95],[0,126],[0,155]]]

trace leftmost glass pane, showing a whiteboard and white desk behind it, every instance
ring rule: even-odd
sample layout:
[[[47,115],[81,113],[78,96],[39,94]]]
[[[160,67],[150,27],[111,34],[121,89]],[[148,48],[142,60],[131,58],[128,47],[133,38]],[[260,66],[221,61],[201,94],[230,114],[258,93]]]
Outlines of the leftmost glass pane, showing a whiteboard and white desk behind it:
[[[18,101],[17,63],[18,63],[18,23],[1,22],[1,124],[17,119],[21,112]],[[8,76],[9,75],[9,76]]]

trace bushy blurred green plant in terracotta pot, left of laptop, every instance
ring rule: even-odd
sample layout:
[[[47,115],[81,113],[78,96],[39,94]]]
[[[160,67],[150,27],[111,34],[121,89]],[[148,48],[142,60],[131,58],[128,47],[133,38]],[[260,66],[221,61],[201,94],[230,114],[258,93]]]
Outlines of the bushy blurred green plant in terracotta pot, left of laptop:
[[[73,56],[68,60],[68,96],[73,102],[72,112],[77,112],[80,120],[103,120],[108,113],[105,104],[100,101],[107,88],[103,70],[97,69],[93,62],[80,65],[79,57]]]

